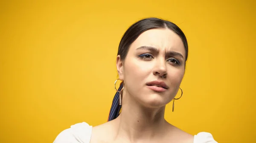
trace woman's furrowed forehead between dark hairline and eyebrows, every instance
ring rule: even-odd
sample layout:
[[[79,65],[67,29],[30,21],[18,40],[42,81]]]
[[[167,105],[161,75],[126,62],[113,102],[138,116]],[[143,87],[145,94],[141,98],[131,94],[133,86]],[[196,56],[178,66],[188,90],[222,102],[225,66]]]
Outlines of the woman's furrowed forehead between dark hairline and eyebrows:
[[[141,46],[151,46],[165,51],[172,50],[181,53],[185,57],[185,49],[180,36],[167,28],[150,29],[140,34],[131,44],[131,48],[135,50]]]

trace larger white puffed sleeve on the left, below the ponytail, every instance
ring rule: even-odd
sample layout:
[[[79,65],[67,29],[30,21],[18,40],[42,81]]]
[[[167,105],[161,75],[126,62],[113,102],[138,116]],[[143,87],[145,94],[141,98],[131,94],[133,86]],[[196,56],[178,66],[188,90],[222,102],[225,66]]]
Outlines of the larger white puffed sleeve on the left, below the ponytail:
[[[92,126],[82,122],[65,129],[55,138],[53,143],[90,143]]]

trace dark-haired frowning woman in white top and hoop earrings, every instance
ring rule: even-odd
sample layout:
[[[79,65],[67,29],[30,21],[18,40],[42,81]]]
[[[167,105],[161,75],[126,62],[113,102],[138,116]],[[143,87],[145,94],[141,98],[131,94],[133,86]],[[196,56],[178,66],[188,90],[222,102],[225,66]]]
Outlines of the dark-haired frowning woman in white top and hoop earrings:
[[[173,101],[174,109],[178,99],[187,57],[186,37],[174,23],[158,18],[134,23],[119,44],[116,67],[122,83],[108,122],[77,123],[54,143],[217,143],[210,133],[189,135],[164,119],[166,104]]]

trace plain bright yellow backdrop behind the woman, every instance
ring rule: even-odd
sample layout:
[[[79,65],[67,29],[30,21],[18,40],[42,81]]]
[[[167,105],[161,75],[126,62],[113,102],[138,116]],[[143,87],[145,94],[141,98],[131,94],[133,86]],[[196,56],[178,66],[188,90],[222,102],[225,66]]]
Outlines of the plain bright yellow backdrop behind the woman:
[[[145,17],[175,22],[189,59],[166,119],[219,143],[256,142],[254,0],[0,2],[0,143],[52,143],[70,125],[107,121],[116,53]]]

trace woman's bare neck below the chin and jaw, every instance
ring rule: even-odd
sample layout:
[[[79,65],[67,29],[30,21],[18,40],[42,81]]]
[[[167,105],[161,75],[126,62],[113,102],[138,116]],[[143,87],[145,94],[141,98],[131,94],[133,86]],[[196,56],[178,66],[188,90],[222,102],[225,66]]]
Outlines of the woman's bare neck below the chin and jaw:
[[[116,118],[116,139],[127,139],[127,142],[153,141],[164,135],[166,120],[164,119],[164,107],[143,107],[131,96],[125,96],[122,103],[122,112]],[[159,140],[158,140],[159,141]]]

